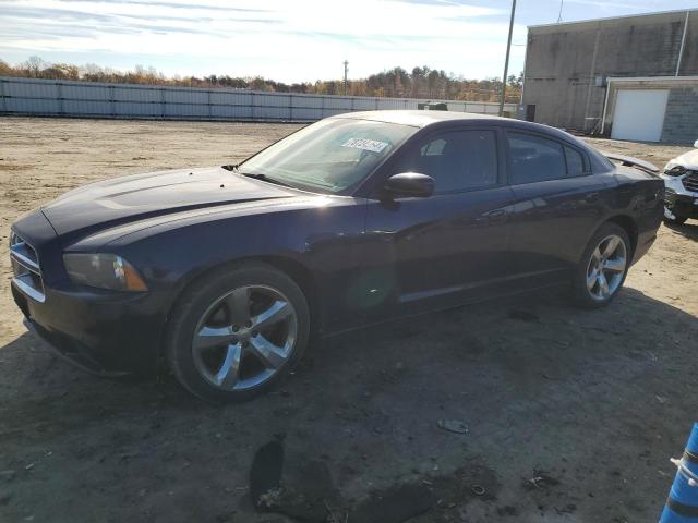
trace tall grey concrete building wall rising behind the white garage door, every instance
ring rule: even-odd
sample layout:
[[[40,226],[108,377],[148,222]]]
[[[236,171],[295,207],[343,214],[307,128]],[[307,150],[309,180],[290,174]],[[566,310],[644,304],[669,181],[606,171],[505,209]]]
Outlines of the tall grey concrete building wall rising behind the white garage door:
[[[529,27],[524,104],[535,121],[600,131],[607,76],[673,76],[686,11]],[[698,74],[698,10],[690,11],[681,75]]]

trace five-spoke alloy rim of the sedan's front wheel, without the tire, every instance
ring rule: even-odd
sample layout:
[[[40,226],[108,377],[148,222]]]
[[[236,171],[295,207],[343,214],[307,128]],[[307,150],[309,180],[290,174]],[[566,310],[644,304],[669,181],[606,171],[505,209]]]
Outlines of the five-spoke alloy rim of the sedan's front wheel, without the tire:
[[[298,317],[277,289],[245,285],[218,297],[192,339],[194,365],[212,386],[245,390],[267,381],[291,357]]]

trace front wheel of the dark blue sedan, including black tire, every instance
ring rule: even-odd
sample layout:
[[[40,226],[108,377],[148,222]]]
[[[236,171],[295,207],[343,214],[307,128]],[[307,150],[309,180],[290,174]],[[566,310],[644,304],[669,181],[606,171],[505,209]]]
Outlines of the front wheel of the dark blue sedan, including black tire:
[[[244,401],[293,368],[309,336],[310,312],[298,284],[272,266],[245,264],[190,284],[169,320],[166,356],[195,396]]]

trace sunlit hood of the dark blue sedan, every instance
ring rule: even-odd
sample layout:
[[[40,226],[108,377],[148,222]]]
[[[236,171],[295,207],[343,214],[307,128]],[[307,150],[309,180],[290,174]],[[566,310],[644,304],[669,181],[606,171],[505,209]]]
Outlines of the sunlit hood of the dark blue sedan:
[[[296,194],[216,167],[105,180],[70,191],[41,210],[56,232],[63,235],[197,208],[289,198]]]

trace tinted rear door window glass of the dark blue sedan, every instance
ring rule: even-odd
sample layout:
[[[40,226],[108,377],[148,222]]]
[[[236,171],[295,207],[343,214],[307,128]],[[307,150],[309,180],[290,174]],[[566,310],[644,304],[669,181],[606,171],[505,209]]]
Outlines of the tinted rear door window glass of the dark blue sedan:
[[[507,133],[507,139],[515,185],[585,174],[583,156],[573,147],[522,133]]]

